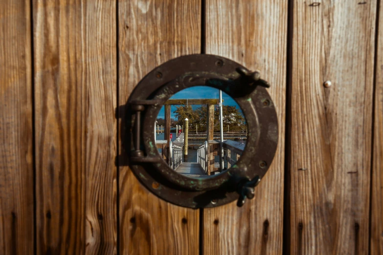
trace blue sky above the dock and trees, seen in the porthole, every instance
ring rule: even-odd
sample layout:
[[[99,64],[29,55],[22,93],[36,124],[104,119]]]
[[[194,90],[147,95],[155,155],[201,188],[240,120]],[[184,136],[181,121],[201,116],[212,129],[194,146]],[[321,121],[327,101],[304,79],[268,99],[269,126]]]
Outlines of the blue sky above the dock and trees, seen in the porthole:
[[[214,87],[208,86],[195,86],[183,89],[176,94],[174,94],[170,99],[219,99],[220,98],[220,90]],[[224,91],[222,91],[222,99],[224,100],[224,106],[237,106],[237,108],[241,109],[237,102],[232,99],[229,95],[227,95]],[[197,109],[200,106],[192,106],[193,109]],[[175,119],[176,106],[171,106],[170,116]],[[165,118],[165,106],[162,106],[159,110],[157,118]]]

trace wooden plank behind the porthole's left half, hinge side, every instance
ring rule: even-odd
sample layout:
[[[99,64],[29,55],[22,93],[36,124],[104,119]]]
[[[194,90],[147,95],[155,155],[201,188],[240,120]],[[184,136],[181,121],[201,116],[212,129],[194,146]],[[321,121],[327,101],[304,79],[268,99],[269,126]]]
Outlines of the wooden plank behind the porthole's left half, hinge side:
[[[119,105],[158,64],[199,53],[200,7],[200,0],[118,0]],[[197,255],[199,211],[160,200],[129,167],[119,172],[120,255]]]

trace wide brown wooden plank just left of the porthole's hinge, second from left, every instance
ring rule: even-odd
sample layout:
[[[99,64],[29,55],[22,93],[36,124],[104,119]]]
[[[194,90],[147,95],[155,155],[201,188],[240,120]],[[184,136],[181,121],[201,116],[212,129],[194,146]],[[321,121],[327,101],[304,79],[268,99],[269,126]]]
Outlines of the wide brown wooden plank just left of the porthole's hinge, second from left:
[[[37,254],[116,254],[115,6],[33,0]]]

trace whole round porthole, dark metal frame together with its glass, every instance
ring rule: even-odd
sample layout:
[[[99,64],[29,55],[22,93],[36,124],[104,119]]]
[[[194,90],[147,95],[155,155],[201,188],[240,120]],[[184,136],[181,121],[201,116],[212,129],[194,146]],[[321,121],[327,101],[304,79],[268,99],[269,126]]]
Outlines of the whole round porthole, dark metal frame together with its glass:
[[[121,156],[148,190],[170,203],[242,206],[277,147],[268,87],[259,72],[215,55],[161,64],[125,106]]]

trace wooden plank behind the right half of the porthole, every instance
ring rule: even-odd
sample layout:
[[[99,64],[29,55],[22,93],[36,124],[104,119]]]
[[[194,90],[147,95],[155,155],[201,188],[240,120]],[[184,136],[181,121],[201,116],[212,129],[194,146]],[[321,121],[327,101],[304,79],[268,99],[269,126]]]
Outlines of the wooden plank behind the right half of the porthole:
[[[204,212],[204,254],[282,254],[287,0],[206,0],[206,53],[259,70],[270,82],[279,142],[253,200]]]

